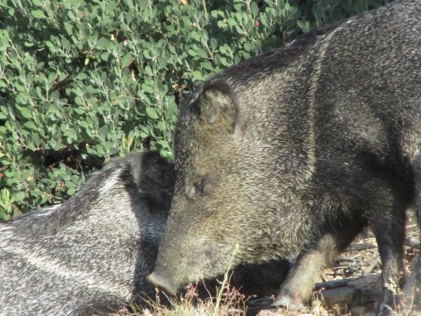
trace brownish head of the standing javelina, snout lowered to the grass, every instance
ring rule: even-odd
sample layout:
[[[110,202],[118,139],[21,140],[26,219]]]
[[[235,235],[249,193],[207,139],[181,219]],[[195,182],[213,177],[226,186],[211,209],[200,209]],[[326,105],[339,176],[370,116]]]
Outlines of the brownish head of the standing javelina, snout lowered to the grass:
[[[170,293],[263,254],[257,161],[244,144],[235,95],[207,82],[182,105],[175,134],[177,182],[158,260],[149,281]],[[251,177],[250,171],[257,173]],[[266,225],[265,225],[266,226]]]

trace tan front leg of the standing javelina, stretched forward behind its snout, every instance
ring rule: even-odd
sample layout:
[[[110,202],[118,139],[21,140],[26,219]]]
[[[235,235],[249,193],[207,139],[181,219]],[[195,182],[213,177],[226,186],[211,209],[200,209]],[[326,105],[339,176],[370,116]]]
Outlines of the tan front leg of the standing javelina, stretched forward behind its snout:
[[[310,299],[314,284],[319,282],[323,269],[332,264],[336,255],[352,242],[359,231],[344,235],[326,234],[314,249],[301,253],[273,305],[292,310],[303,308],[303,302]]]

